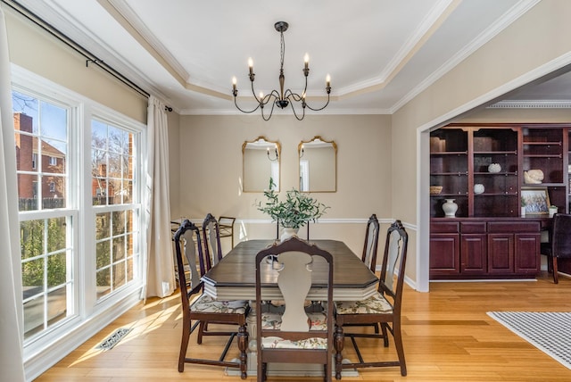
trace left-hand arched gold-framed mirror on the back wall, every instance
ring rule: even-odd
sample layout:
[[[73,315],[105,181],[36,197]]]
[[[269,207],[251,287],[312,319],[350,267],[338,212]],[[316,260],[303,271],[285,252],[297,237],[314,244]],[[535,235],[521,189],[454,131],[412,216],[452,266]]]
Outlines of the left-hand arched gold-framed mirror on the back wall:
[[[242,145],[242,190],[244,192],[263,192],[269,188],[269,179],[273,179],[276,191],[279,191],[279,167],[281,145],[266,137],[257,137],[245,141]]]

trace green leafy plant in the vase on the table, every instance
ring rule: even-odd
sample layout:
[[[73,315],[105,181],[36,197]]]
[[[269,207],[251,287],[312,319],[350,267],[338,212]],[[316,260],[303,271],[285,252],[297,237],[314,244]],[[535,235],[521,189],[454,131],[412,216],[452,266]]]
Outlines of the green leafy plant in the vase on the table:
[[[255,205],[258,210],[267,213],[273,221],[283,227],[301,228],[308,221],[318,220],[329,208],[308,194],[292,188],[285,192],[285,201],[279,201],[275,191],[274,179],[269,179],[269,190],[264,191],[267,201]]]

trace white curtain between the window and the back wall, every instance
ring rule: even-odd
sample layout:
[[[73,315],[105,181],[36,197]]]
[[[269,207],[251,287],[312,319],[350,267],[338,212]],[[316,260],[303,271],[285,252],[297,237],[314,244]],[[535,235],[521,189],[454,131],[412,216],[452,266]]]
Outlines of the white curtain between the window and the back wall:
[[[147,110],[147,262],[145,297],[172,295],[175,265],[170,237],[169,132],[167,113],[156,97]]]

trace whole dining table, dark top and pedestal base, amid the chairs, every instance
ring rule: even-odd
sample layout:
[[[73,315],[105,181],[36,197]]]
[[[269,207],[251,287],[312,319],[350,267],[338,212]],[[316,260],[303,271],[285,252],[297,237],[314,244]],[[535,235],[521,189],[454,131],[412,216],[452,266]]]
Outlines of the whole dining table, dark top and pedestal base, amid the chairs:
[[[252,239],[242,241],[232,248],[222,260],[213,266],[202,280],[204,293],[217,300],[248,300],[251,311],[246,319],[249,333],[248,376],[256,374],[256,320],[252,303],[256,300],[255,257],[262,249],[273,245],[277,240]],[[333,298],[336,301],[364,300],[377,292],[378,278],[368,269],[352,250],[342,241],[332,239],[310,240],[333,255]],[[281,300],[277,286],[279,267],[273,267],[275,259],[267,259],[265,264],[269,272],[264,272],[261,284],[263,300]],[[307,295],[310,301],[327,300],[327,263],[316,259],[311,263],[311,288]],[[234,368],[227,369],[228,375],[238,375]],[[323,365],[317,364],[269,364],[269,375],[280,376],[322,376]],[[358,377],[357,370],[343,369],[343,377]]]

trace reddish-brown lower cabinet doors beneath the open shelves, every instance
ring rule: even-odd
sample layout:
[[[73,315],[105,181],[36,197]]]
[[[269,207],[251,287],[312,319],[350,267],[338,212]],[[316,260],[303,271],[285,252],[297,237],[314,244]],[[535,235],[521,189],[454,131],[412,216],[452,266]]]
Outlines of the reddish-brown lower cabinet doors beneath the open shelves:
[[[430,277],[534,277],[540,267],[542,220],[546,218],[433,219]]]

